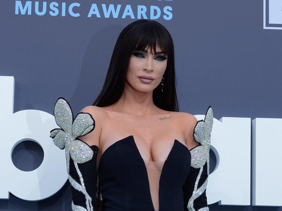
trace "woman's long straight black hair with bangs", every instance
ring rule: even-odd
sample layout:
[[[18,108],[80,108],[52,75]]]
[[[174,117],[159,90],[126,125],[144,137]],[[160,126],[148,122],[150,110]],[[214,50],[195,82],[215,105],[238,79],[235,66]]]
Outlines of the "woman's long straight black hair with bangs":
[[[176,95],[174,45],[167,29],[157,21],[140,19],[127,25],[117,38],[105,82],[93,106],[109,106],[120,98],[130,57],[135,50],[146,47],[155,54],[157,45],[167,54],[163,92],[159,84],[153,91],[154,104],[167,111],[179,111]]]

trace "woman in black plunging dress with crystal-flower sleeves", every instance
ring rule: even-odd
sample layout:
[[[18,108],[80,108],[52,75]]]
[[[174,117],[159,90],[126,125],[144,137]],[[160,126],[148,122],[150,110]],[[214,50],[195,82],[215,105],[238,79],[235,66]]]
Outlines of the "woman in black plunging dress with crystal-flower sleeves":
[[[72,210],[209,210],[212,108],[200,121],[178,111],[173,41],[160,23],[127,25],[93,105],[74,119],[59,98],[54,116]]]

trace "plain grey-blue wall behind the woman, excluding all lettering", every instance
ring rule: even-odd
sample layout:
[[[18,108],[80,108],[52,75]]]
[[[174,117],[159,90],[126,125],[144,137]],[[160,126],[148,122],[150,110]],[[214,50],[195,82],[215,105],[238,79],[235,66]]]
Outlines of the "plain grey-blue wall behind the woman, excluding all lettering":
[[[172,7],[170,20],[165,20],[162,12],[156,21],[174,40],[180,111],[204,114],[211,105],[217,119],[282,118],[282,30],[263,29],[263,0],[64,1],[67,6],[80,3],[74,8],[79,17],[70,16],[68,11],[66,16],[61,12],[49,15],[52,1],[46,1],[47,13],[38,16],[35,1],[31,2],[31,15],[22,15],[15,14],[16,1],[0,1],[0,76],[15,78],[14,112],[37,109],[53,114],[61,96],[69,101],[75,115],[92,105],[102,88],[119,33],[137,20],[137,5],[145,5],[147,10],[154,5],[161,11],[164,6]],[[43,1],[39,2],[42,8]],[[62,1],[57,2],[61,5]],[[92,3],[97,4],[101,18],[87,17]],[[121,4],[118,17],[105,18],[102,3],[107,7],[114,4],[115,8]],[[122,18],[127,4],[135,19]],[[150,18],[149,11],[147,15]],[[36,146],[27,143],[17,150],[13,159],[19,165],[32,168],[42,160]],[[31,162],[21,163],[23,158]],[[0,200],[0,210],[61,211],[70,210],[70,204],[70,185],[66,183],[58,193],[41,201],[24,201],[10,194],[9,200]],[[282,211],[281,207],[217,203],[209,207],[212,211]]]

